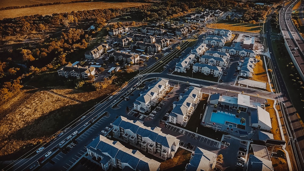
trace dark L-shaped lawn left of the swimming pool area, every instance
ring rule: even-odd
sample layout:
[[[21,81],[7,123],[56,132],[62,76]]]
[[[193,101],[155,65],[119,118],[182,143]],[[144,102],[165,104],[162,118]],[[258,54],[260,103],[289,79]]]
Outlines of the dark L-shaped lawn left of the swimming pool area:
[[[192,114],[191,118],[189,119],[185,128],[192,132],[196,132],[196,128],[197,128],[198,134],[204,135],[204,136],[212,138],[212,139],[220,140],[222,138],[223,132],[220,132],[220,131],[215,132],[215,130],[213,130],[211,128],[202,126],[201,119],[199,119],[200,115],[204,114],[205,109],[203,109],[203,107],[204,107],[204,104],[207,103],[207,99],[208,99],[208,95],[206,95],[206,97],[204,97],[204,94],[203,94],[202,101],[199,102],[197,108],[193,112],[193,114]]]

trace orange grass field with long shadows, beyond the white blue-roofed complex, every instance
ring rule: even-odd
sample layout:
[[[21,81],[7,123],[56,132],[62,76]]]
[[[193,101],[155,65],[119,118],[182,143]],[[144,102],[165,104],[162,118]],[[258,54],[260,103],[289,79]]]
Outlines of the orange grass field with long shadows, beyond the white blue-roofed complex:
[[[212,29],[228,29],[232,31],[255,32],[255,33],[259,33],[262,28],[259,27],[259,24],[234,23],[223,20],[212,25],[207,25],[207,27]]]

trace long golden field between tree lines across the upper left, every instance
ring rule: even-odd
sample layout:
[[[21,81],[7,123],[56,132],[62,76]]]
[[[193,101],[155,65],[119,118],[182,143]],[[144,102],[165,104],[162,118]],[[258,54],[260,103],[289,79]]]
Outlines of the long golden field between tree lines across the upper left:
[[[70,4],[58,4],[41,7],[29,7],[20,9],[7,9],[0,11],[0,19],[15,18],[26,15],[51,15],[53,13],[72,12],[81,10],[93,10],[93,9],[108,9],[108,8],[126,8],[135,7],[139,5],[146,5],[149,3],[140,2],[81,2]]]

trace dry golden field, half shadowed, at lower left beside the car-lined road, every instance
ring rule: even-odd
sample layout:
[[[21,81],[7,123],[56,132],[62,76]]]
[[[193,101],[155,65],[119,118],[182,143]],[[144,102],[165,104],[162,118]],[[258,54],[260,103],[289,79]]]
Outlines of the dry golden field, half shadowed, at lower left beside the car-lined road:
[[[0,105],[0,160],[14,159],[43,142],[83,114],[83,106],[47,91],[22,90]]]

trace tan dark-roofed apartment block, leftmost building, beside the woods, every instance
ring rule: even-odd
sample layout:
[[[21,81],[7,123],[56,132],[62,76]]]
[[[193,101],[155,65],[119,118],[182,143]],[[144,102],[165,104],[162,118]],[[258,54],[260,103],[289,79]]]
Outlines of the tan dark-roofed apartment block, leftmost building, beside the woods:
[[[59,70],[57,70],[57,73],[60,77],[76,77],[88,79],[89,75],[95,74],[95,67],[81,67],[79,65],[67,64],[66,66],[61,67]]]

